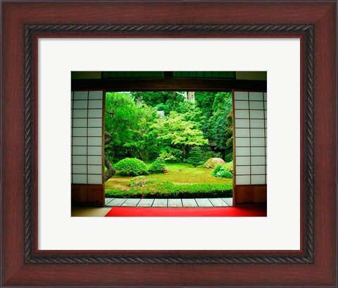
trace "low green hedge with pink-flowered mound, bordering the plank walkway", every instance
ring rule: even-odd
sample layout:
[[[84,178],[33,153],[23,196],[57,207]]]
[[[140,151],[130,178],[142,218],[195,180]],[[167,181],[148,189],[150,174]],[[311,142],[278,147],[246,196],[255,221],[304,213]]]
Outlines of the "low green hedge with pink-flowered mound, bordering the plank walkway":
[[[204,198],[232,197],[232,183],[173,184],[170,181],[137,176],[130,181],[128,190],[106,191],[106,197],[116,198]]]

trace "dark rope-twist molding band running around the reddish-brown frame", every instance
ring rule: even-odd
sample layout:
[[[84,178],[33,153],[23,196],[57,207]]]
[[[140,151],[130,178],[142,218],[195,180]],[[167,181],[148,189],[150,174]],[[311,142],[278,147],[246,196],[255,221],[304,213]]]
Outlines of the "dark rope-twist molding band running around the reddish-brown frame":
[[[305,217],[304,217],[304,254],[266,255],[266,254],[227,254],[227,255],[165,255],[165,254],[122,254],[114,255],[37,255],[34,253],[34,36],[44,33],[63,34],[299,34],[304,35],[305,50],[305,139],[304,139],[304,181],[305,181]],[[63,25],[34,24],[25,25],[24,35],[24,243],[25,263],[34,264],[302,264],[313,263],[314,258],[314,35],[313,25],[280,24],[231,24],[231,25]]]

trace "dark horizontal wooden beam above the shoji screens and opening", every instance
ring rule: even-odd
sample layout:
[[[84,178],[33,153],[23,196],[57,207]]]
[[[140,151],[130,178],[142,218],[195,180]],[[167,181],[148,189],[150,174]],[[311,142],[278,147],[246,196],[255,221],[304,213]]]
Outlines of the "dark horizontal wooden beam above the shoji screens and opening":
[[[72,90],[113,91],[266,91],[264,80],[225,79],[90,79],[72,80]]]

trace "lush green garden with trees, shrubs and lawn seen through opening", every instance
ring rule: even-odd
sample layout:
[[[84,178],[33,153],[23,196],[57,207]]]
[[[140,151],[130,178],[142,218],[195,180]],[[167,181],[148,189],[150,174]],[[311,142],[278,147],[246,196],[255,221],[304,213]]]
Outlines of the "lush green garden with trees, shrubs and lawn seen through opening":
[[[231,92],[107,92],[106,197],[232,197]]]

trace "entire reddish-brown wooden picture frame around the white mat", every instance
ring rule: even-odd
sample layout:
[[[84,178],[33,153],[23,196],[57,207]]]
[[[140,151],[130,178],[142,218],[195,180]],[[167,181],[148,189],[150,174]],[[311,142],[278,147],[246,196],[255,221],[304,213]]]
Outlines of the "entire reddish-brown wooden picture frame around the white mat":
[[[337,287],[336,1],[3,1],[1,8],[1,285]],[[39,251],[39,35],[299,37],[301,250]]]

